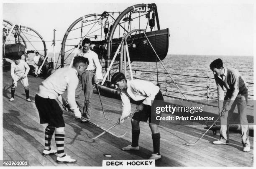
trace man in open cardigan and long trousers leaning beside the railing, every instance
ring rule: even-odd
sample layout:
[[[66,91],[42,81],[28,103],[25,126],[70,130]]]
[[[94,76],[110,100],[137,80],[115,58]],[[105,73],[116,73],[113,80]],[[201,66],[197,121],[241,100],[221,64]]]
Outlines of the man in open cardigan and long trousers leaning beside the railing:
[[[243,80],[238,70],[223,67],[221,59],[216,59],[210,64],[210,69],[214,73],[215,82],[218,89],[219,114],[220,114],[220,140],[214,141],[213,144],[228,144],[228,127],[231,113],[236,105],[240,115],[241,137],[243,151],[250,151],[250,142],[248,137],[247,121],[247,102],[248,89],[247,83]],[[224,88],[227,90],[224,97]],[[224,110],[224,111],[222,111]],[[222,114],[221,114],[222,113]]]

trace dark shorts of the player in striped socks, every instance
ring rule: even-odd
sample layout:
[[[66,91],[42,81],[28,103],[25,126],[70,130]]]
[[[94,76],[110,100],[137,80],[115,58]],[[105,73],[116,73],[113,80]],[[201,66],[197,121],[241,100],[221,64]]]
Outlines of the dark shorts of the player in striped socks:
[[[54,127],[65,127],[63,112],[55,99],[45,99],[36,94],[36,108],[38,109],[40,124],[49,124]]]

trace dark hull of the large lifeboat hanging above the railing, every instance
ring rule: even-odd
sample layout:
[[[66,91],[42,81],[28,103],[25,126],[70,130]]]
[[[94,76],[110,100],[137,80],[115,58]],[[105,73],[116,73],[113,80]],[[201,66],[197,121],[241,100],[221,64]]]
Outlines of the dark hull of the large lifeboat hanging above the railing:
[[[164,60],[167,55],[168,47],[169,47],[169,29],[165,30],[156,30],[152,32],[146,32],[146,36],[144,33],[139,33],[136,35],[131,35],[130,38],[127,39],[128,50],[130,55],[131,62],[156,62],[159,61],[154,50],[151,45],[154,47],[157,55],[160,60]],[[118,46],[122,38],[113,39],[112,40],[112,49],[110,59],[112,60]],[[95,45],[93,50],[99,55],[104,56],[106,54],[106,41],[92,41],[92,44]],[[106,55],[105,55],[106,56]],[[127,57],[127,55],[126,55]],[[106,59],[106,58],[105,58]],[[116,61],[120,60],[120,55],[118,55],[115,59]],[[128,60],[128,58],[127,58]]]

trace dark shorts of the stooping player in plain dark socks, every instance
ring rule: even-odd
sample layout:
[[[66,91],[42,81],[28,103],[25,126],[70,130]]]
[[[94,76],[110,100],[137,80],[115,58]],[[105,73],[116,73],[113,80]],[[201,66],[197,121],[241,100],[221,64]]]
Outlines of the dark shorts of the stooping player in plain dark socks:
[[[156,97],[155,97],[154,100],[164,100],[164,97],[163,97],[160,90],[156,94]],[[147,122],[148,121],[149,123],[154,123],[156,125],[159,125],[160,120],[156,120],[156,116],[161,117],[161,113],[160,114],[156,114],[155,112],[151,113],[151,106],[144,105],[143,110],[140,111],[140,112],[134,113],[132,119],[135,119],[135,120],[140,121],[140,122]]]

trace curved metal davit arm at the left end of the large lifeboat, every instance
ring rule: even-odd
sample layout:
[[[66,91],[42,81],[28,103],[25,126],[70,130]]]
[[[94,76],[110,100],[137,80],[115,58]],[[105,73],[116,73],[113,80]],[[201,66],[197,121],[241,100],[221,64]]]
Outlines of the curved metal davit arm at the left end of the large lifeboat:
[[[61,67],[64,67],[64,56],[65,56],[65,44],[66,44],[66,40],[67,40],[67,36],[69,35],[69,32],[72,30],[72,28],[74,27],[74,25],[76,25],[78,22],[80,22],[81,20],[84,20],[87,17],[92,17],[92,16],[101,16],[102,14],[89,14],[89,15],[84,15],[82,17],[79,17],[77,20],[75,20],[67,29],[63,40],[62,40],[62,45],[61,45]]]

